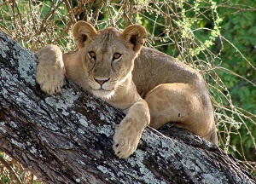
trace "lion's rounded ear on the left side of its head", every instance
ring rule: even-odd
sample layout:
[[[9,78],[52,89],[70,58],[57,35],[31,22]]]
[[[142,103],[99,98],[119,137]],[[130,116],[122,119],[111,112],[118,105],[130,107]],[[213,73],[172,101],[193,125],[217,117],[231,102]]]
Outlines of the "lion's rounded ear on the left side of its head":
[[[84,42],[87,39],[90,39],[97,34],[96,29],[85,21],[78,21],[73,26],[72,32],[79,49],[84,47]]]

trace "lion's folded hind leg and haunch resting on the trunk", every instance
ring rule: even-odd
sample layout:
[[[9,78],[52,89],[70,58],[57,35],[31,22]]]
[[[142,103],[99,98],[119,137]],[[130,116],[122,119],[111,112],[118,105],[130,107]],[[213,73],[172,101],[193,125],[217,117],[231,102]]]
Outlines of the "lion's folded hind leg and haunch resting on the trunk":
[[[164,83],[146,95],[150,112],[150,126],[159,129],[169,122],[177,127],[189,129],[218,144],[213,121],[212,104],[208,95],[187,83]]]

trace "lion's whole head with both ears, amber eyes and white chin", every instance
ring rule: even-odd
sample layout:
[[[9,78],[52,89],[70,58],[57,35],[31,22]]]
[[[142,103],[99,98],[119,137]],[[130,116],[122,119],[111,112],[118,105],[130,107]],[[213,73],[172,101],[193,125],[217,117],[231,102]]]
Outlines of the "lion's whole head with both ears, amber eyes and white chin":
[[[138,25],[128,26],[123,32],[115,28],[96,31],[89,23],[79,21],[73,26],[73,36],[91,92],[108,99],[127,78],[131,78],[134,59],[147,32]]]

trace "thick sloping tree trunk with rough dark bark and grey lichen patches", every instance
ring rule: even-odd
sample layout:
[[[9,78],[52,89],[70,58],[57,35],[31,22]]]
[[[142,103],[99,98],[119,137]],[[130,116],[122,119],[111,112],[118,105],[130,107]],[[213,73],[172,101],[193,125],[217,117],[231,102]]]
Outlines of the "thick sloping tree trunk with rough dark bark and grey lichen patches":
[[[36,65],[0,32],[0,150],[45,183],[255,183],[236,159],[170,126],[145,129],[130,158],[115,157],[114,126],[124,115],[73,83],[45,95]]]

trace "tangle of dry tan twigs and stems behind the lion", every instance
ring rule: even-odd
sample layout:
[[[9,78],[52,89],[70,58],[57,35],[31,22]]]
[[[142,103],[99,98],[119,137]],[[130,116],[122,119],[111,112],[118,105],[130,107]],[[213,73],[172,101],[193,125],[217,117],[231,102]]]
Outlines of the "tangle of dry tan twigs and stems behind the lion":
[[[67,51],[73,49],[75,45],[70,30],[74,22],[78,20],[90,21],[96,28],[115,26],[123,29],[133,23],[143,24],[149,33],[146,42],[149,47],[171,48],[168,51],[169,55],[178,57],[179,60],[197,68],[206,76],[210,92],[214,96],[212,101],[216,108],[216,122],[221,128],[218,132],[220,146],[224,148],[225,152],[229,152],[230,149],[234,151],[230,137],[238,136],[241,138],[239,129],[241,126],[247,128],[247,124],[256,125],[256,115],[233,106],[230,91],[222,78],[218,76],[218,70],[237,76],[236,73],[215,64],[216,60],[221,62],[222,42],[230,41],[225,40],[225,37],[220,33],[218,24],[221,20],[218,18],[217,7],[211,0],[202,1],[203,3],[198,4],[179,2],[171,0],[162,2],[150,0],[3,0],[3,3],[0,3],[0,31],[15,38],[24,47],[33,51],[49,43],[55,43],[63,51]],[[196,26],[197,21],[204,19],[212,21],[214,27],[210,29]],[[195,36],[196,32],[206,34],[207,40],[201,41]],[[217,39],[220,40],[218,52],[212,53],[209,48]],[[230,44],[232,43],[230,42]],[[244,60],[247,59],[244,57]],[[248,60],[247,62],[255,69],[252,63]],[[243,77],[240,76],[240,78]],[[247,78],[243,79],[247,81]],[[251,84],[256,87],[254,83]],[[255,135],[252,135],[248,128],[247,134],[255,147],[253,137]],[[247,155],[244,154],[243,149],[244,146],[241,144],[240,149],[235,150],[235,152],[240,150],[239,154],[244,160],[241,163],[250,172],[255,172],[255,162],[247,161]],[[4,175],[11,181],[17,181],[18,179],[14,175],[9,176],[11,172],[15,172],[17,177],[21,178],[18,175],[21,165],[15,161],[9,162],[4,157],[0,161],[1,180],[3,180]],[[15,166],[16,169],[10,170],[8,164],[18,166]],[[22,177],[30,178],[28,181],[32,179],[31,175]],[[22,183],[25,182],[22,181]]]

